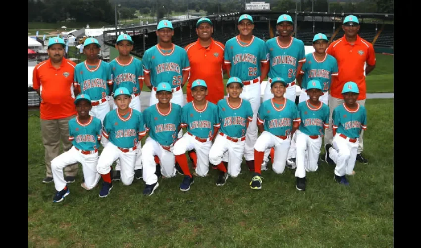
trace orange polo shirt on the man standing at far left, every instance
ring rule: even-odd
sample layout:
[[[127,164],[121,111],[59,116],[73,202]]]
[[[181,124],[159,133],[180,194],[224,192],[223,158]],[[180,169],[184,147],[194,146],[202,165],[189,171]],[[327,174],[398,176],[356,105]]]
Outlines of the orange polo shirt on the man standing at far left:
[[[40,118],[63,119],[76,115],[73,79],[76,63],[63,58],[58,69],[51,59],[37,64],[32,73],[32,87],[41,88]]]

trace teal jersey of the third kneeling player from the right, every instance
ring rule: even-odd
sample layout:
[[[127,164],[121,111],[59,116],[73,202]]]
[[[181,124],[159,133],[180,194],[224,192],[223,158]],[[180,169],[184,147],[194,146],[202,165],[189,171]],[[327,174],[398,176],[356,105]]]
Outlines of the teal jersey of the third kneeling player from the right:
[[[297,105],[284,98],[284,104],[274,102],[274,99],[264,101],[257,113],[257,120],[263,124],[264,130],[278,136],[290,136],[294,122],[299,122]]]

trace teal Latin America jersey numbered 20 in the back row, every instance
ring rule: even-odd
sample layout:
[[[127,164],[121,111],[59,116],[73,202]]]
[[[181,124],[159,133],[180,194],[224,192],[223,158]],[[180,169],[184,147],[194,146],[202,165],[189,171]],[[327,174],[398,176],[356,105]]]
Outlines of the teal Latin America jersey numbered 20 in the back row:
[[[225,43],[224,62],[231,65],[230,76],[248,81],[262,74],[262,62],[267,62],[267,50],[264,41],[253,36],[245,44],[237,35]]]

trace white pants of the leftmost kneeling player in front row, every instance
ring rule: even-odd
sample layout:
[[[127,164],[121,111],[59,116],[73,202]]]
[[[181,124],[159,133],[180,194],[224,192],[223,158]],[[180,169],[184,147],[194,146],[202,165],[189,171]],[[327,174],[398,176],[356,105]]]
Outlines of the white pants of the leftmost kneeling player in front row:
[[[66,186],[63,174],[64,167],[73,165],[77,162],[82,164],[86,188],[92,189],[97,186],[101,178],[101,175],[97,172],[98,151],[85,155],[72,146],[70,150],[61,153],[51,161],[55,190],[61,191]]]

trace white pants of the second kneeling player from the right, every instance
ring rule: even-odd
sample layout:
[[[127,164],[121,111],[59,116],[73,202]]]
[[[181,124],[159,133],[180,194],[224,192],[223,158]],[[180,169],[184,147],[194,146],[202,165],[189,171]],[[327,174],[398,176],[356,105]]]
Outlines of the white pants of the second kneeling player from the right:
[[[321,136],[312,139],[309,135],[297,130],[294,134],[297,137],[297,149],[295,154],[295,176],[299,178],[306,177],[306,172],[315,172],[317,167],[318,155],[320,154]]]

